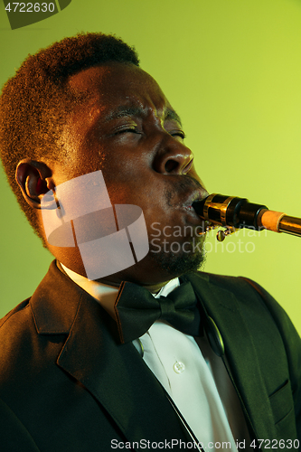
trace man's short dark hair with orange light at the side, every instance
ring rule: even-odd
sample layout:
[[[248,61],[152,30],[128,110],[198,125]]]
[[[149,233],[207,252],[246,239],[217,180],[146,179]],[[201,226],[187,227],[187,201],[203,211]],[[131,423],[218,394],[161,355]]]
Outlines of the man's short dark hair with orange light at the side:
[[[39,224],[15,181],[24,157],[62,161],[61,129],[74,103],[80,101],[68,87],[71,75],[108,61],[139,66],[134,47],[112,34],[78,33],[28,55],[7,80],[0,97],[0,155],[9,184],[33,231]]]

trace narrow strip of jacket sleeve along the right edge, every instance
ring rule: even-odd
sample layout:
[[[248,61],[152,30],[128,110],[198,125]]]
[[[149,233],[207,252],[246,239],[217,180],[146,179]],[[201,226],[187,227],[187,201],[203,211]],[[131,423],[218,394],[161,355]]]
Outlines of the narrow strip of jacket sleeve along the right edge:
[[[301,446],[301,339],[284,309],[254,281],[243,278],[257,290],[272,315],[287,352],[287,363],[296,413],[296,430]]]

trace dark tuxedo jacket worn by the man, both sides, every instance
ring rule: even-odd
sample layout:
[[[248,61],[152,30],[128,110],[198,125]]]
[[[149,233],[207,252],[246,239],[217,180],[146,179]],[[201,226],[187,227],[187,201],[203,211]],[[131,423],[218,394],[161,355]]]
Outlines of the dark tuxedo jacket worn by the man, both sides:
[[[300,438],[301,344],[282,308],[244,278],[185,278],[221,332],[250,434],[286,441],[298,429]],[[190,440],[133,344],[119,344],[114,320],[55,262],[33,297],[2,320],[0,363],[1,451]]]

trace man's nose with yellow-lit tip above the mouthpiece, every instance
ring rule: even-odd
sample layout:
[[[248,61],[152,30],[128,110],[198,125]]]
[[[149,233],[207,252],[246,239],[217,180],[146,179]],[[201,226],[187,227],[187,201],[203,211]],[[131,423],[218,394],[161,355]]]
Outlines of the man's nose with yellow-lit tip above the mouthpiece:
[[[187,174],[193,165],[193,152],[174,137],[166,137],[155,155],[154,169],[161,174]]]

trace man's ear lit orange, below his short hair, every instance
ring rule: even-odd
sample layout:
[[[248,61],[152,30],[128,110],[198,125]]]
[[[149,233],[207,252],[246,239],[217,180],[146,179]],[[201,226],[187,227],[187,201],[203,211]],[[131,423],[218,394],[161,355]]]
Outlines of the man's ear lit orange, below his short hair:
[[[55,187],[49,166],[29,158],[24,158],[17,165],[15,180],[33,209],[41,209],[43,195]]]

